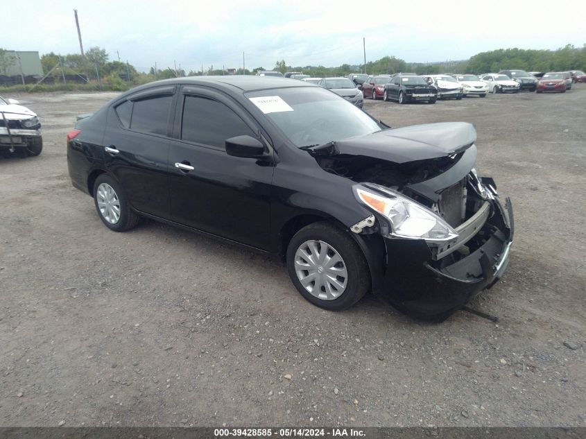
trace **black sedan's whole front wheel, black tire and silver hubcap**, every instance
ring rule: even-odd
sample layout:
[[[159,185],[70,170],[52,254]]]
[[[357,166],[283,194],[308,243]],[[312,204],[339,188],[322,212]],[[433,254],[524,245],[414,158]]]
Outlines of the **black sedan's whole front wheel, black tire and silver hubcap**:
[[[323,309],[347,309],[370,289],[362,250],[348,232],[325,221],[307,225],[293,236],[286,264],[299,293]]]

